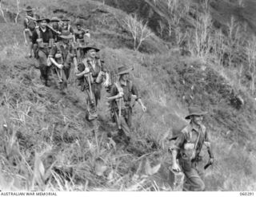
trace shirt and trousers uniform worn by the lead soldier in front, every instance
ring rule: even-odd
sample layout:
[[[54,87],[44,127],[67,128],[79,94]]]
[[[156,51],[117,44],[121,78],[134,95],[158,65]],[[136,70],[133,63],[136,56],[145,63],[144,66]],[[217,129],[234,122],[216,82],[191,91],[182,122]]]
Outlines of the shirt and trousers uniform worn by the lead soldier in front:
[[[177,159],[185,174],[183,191],[204,191],[204,173],[200,152],[204,143],[210,143],[206,127],[190,122],[175,140],[172,150],[178,152]],[[213,153],[208,149],[210,158]]]

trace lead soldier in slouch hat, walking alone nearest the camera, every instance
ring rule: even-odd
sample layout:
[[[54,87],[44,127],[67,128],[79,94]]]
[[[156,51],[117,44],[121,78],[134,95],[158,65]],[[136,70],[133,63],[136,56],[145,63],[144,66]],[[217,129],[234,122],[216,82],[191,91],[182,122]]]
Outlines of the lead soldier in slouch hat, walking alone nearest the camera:
[[[207,165],[214,163],[208,132],[202,124],[203,115],[207,112],[202,112],[196,106],[190,107],[189,112],[185,119],[190,120],[190,124],[182,129],[174,145],[170,147],[173,158],[172,169],[183,171],[185,175],[183,191],[204,191],[203,171],[198,165],[202,161],[200,152],[203,144],[206,145],[210,156]],[[178,166],[177,159],[181,167]]]

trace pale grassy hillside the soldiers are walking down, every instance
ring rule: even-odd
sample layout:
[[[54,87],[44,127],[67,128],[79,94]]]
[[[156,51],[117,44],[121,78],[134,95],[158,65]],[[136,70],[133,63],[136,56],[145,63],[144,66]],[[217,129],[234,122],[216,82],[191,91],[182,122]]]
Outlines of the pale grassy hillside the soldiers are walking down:
[[[131,77],[138,83],[148,112],[143,114],[135,105],[131,144],[124,148],[106,135],[115,126],[106,112],[103,91],[101,126],[95,134],[86,121],[85,95],[75,86],[74,76],[66,95],[54,83],[50,88],[42,86],[37,62],[25,58],[22,25],[2,23],[1,190],[171,191],[166,176],[170,142],[166,139],[174,128],[186,124],[183,117],[190,104],[209,112],[206,125],[216,163],[206,171],[206,190],[255,190],[254,99],[234,87],[224,71],[220,74],[221,67],[216,69],[202,58],[181,56],[175,49],[166,51],[156,36],[142,45],[141,52],[134,52],[132,37],[120,21],[126,14],[101,2],[22,1],[23,6],[29,4],[45,15],[84,18],[109,69],[134,65]],[[3,5],[14,10],[14,1]],[[239,104],[238,96],[245,104]],[[205,149],[202,155],[206,163]],[[159,171],[150,175],[151,167],[158,164]]]

